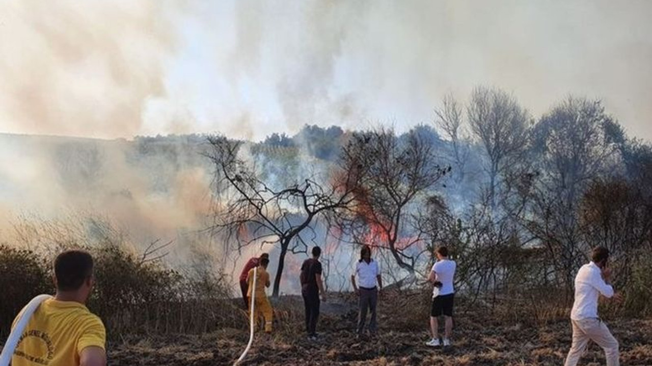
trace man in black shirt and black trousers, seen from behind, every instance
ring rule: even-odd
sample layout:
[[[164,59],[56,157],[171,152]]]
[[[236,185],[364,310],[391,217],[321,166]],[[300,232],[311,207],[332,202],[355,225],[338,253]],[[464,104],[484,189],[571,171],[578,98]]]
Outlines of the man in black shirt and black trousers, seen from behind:
[[[317,319],[319,318],[319,294],[325,299],[321,282],[321,248],[312,248],[312,258],[304,260],[301,265],[301,295],[306,307],[306,332],[308,339],[317,339]]]

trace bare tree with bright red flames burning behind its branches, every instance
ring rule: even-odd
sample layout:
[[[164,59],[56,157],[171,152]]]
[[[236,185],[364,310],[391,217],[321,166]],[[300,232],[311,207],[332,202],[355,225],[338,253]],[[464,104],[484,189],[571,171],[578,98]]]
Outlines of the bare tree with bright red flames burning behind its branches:
[[[411,212],[420,195],[434,188],[450,167],[433,162],[432,145],[417,133],[402,138],[392,130],[355,133],[342,150],[342,171],[355,172],[355,206],[340,216],[343,232],[358,243],[389,249],[396,264],[413,273],[424,249]],[[351,174],[351,173],[349,173]]]

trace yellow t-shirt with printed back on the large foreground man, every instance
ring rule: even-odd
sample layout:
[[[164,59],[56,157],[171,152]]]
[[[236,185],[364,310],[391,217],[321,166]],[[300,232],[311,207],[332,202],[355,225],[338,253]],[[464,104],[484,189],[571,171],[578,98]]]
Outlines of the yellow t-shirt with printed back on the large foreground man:
[[[84,348],[105,349],[105,342],[102,320],[82,303],[49,299],[40,304],[27,323],[11,365],[76,366]]]

